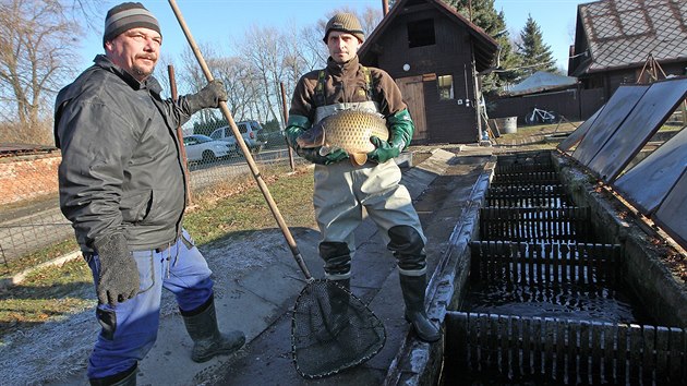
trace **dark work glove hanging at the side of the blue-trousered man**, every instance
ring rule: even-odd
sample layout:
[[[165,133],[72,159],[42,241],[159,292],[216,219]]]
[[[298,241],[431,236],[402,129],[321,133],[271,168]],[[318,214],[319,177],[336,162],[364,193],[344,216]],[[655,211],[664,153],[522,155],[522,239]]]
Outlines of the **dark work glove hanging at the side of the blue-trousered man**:
[[[138,267],[129,252],[126,238],[121,233],[108,234],[93,245],[100,260],[96,293],[100,304],[124,302],[138,293]]]

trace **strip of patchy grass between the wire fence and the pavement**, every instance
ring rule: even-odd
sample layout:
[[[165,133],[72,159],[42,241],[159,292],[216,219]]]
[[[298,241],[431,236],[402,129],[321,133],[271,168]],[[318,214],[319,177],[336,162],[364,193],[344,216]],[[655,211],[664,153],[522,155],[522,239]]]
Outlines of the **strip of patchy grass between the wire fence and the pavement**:
[[[288,173],[289,169],[272,168],[263,171],[263,180],[289,227],[315,227],[312,170],[303,168]],[[184,227],[198,245],[228,233],[241,234],[277,227],[252,177],[197,192],[193,200],[194,206],[186,212]],[[76,249],[73,240],[64,241],[16,258],[11,262],[10,269],[19,273]],[[95,304],[91,269],[83,260],[37,269],[19,286],[0,290],[0,343],[8,334],[59,319]]]

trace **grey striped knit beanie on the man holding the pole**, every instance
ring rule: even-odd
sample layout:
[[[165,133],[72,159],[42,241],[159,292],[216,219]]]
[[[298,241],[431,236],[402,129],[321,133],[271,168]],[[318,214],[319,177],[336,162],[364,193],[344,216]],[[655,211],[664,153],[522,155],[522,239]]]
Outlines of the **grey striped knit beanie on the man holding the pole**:
[[[123,2],[107,11],[103,45],[131,28],[148,28],[160,33],[157,19],[140,2]]]

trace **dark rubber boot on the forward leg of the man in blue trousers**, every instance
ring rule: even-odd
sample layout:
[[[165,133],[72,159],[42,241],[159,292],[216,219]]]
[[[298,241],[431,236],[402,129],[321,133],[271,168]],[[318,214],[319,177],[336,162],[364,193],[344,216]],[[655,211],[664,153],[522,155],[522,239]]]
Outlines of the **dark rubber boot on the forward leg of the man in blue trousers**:
[[[245,343],[245,335],[242,331],[219,333],[213,297],[195,311],[188,313],[182,311],[181,315],[194,342],[191,352],[194,362],[206,362],[216,355],[230,354]]]

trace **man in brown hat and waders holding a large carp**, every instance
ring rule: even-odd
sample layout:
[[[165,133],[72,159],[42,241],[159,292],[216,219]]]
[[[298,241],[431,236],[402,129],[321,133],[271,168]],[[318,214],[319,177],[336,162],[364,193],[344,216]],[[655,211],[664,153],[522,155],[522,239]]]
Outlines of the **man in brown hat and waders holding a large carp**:
[[[432,342],[441,333],[424,310],[426,239],[394,161],[410,144],[414,125],[394,80],[359,63],[364,38],[351,13],[328,21],[327,67],[303,75],[296,86],[287,142],[315,164],[313,204],[326,279],[350,289],[353,230],[365,207],[397,260],[406,318],[420,339]],[[330,299],[333,313],[346,312],[347,302]]]

